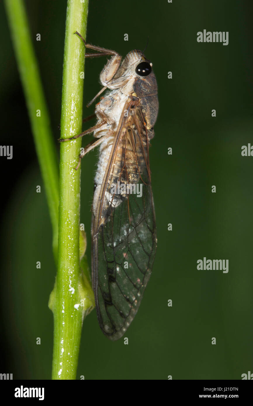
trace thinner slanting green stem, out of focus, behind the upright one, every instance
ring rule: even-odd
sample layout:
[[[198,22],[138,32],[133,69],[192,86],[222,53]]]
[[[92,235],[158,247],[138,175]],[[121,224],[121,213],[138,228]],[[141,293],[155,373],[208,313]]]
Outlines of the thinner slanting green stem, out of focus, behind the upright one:
[[[53,252],[57,262],[58,160],[50,129],[48,109],[39,76],[39,67],[32,46],[24,2],[22,0],[5,0],[4,3],[45,186],[53,231]],[[35,39],[36,35],[34,34]],[[40,113],[38,110],[40,110]]]

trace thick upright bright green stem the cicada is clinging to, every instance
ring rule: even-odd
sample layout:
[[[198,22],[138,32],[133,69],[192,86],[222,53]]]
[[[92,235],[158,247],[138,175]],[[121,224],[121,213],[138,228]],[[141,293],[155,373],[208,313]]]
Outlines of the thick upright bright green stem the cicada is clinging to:
[[[84,43],[88,0],[68,0],[63,61],[61,138],[82,131]],[[81,138],[61,143],[59,182],[58,272],[54,297],[54,352],[52,379],[75,379],[84,317],[80,306],[80,169],[76,171]],[[82,295],[81,295],[82,296]],[[84,297],[84,300],[88,298]],[[86,306],[86,310],[89,305]]]

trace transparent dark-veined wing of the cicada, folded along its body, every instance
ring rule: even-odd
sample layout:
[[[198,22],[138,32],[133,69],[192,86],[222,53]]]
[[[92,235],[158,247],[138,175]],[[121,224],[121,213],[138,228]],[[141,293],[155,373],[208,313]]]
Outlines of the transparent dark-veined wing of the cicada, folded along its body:
[[[122,337],[132,322],[156,252],[149,140],[141,107],[131,107],[115,135],[94,220],[96,310],[111,340]]]

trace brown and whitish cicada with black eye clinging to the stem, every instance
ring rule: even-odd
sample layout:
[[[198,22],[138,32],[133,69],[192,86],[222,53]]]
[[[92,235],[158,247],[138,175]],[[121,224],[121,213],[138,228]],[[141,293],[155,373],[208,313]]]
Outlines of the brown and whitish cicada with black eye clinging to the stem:
[[[103,88],[91,103],[108,92],[95,106],[97,124],[68,140],[91,132],[97,138],[80,160],[100,145],[92,205],[93,289],[99,326],[117,340],[138,310],[156,253],[149,143],[158,114],[157,83],[143,52],[133,50],[121,62],[117,52],[84,43],[95,51],[86,57],[111,56],[100,73]]]

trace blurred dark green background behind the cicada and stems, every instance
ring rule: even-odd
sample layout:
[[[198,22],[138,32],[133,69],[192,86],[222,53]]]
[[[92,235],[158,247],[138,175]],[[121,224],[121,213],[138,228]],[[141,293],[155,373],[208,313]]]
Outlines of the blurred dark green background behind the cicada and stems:
[[[59,151],[67,2],[25,3]],[[50,379],[48,298],[56,275],[51,225],[43,186],[36,193],[42,180],[3,4],[0,8],[1,145],[13,145],[13,159],[0,158],[0,372],[13,373],[13,379]],[[84,321],[77,377],[236,380],[253,372],[253,157],[241,155],[242,145],[253,145],[252,11],[250,0],[89,2],[87,41],[125,56],[144,49],[149,37],[145,55],[153,63],[160,104],[150,148],[158,248],[126,334],[129,345],[106,339],[94,310]],[[197,32],[204,29],[228,31],[229,45],[198,43]],[[86,61],[83,117],[93,112],[85,105],[101,88],[104,63],[105,58]],[[89,263],[97,153],[83,160],[81,174]],[[203,257],[228,259],[229,272],[197,270]]]

